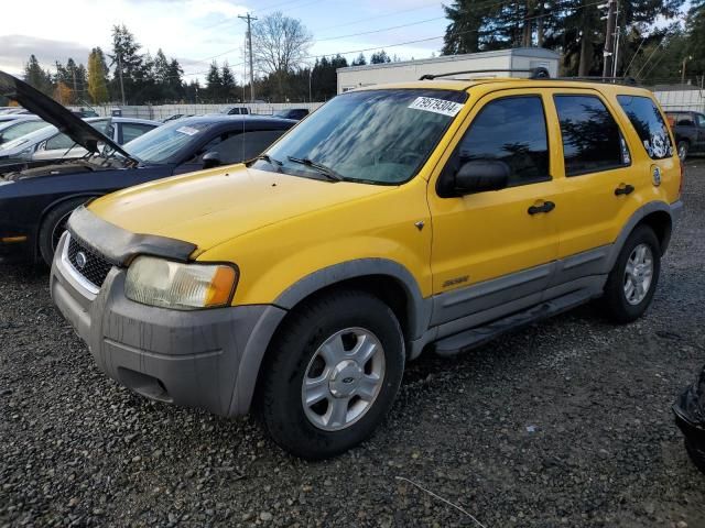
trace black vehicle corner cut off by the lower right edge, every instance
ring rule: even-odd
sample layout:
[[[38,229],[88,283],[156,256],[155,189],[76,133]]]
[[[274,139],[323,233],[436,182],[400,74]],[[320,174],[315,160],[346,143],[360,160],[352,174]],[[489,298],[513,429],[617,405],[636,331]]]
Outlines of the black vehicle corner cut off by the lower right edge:
[[[705,367],[673,404],[675,424],[683,432],[685,451],[705,473]]]

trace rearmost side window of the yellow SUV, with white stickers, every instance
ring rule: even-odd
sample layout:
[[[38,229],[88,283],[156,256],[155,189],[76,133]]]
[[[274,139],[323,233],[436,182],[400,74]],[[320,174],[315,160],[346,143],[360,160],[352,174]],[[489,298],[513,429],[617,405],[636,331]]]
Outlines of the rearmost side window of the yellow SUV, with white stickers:
[[[673,156],[673,143],[659,108],[648,97],[617,96],[651,160]]]

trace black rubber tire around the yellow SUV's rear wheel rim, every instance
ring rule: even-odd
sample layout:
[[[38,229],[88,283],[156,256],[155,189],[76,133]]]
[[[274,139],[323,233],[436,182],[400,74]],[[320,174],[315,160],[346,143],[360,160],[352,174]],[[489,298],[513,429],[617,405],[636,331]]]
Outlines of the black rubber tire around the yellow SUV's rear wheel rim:
[[[646,296],[638,304],[630,304],[625,293],[627,261],[632,252],[640,244],[646,244],[651,250],[653,271],[652,278]],[[661,244],[653,230],[648,226],[637,227],[625,242],[617,262],[609,273],[607,283],[605,284],[601,308],[605,316],[612,322],[620,324],[631,322],[643,315],[651,304],[653,294],[659,284],[659,274],[661,273]]]

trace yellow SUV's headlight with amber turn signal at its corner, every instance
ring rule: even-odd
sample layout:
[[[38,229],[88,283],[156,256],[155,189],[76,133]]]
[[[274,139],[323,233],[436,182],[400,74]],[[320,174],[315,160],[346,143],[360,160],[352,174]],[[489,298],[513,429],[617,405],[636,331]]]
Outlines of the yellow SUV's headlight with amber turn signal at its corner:
[[[124,295],[143,305],[193,310],[227,306],[238,272],[223,264],[181,264],[138,256],[128,268]]]

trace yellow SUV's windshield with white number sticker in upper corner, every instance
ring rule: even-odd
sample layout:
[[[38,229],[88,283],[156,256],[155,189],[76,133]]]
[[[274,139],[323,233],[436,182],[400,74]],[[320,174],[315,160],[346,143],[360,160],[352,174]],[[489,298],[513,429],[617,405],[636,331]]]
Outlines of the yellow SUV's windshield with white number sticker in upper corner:
[[[464,91],[434,89],[344,94],[267,154],[283,164],[276,170],[289,174],[315,174],[311,164],[299,160],[324,165],[345,180],[402,184],[415,176],[466,99]],[[272,168],[265,161],[256,166]]]

